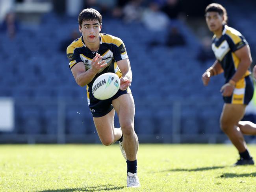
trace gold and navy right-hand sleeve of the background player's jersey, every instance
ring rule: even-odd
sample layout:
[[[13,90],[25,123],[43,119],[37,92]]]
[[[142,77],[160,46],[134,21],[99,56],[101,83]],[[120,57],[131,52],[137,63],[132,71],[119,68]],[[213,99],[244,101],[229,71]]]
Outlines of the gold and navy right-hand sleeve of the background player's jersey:
[[[238,34],[230,33],[228,36],[230,37],[230,41],[228,42],[228,44],[232,52],[235,52],[236,50],[239,50],[243,46],[248,44],[245,37],[243,37],[243,35],[241,34],[238,35]]]

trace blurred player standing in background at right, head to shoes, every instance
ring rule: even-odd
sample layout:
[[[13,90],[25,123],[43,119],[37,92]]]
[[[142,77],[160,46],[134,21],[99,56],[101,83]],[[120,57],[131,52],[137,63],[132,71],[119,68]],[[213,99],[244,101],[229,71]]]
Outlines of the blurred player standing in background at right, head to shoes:
[[[211,47],[216,61],[204,72],[202,81],[207,86],[212,76],[224,72],[225,84],[221,87],[224,100],[221,129],[239,152],[240,159],[234,166],[254,164],[243,134],[251,134],[255,129],[249,126],[251,122],[241,121],[254,91],[249,71],[252,63],[250,48],[239,31],[227,26],[227,13],[223,6],[210,4],[206,7],[205,14],[208,28],[214,33]]]

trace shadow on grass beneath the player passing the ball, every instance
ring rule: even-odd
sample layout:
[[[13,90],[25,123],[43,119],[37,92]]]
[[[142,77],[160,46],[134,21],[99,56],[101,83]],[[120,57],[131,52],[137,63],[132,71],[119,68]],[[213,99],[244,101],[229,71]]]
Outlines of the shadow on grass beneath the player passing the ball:
[[[36,192],[73,192],[73,191],[111,191],[126,188],[126,186],[113,186],[113,185],[99,185],[99,186],[88,186],[83,188],[65,188],[65,189],[48,189]]]

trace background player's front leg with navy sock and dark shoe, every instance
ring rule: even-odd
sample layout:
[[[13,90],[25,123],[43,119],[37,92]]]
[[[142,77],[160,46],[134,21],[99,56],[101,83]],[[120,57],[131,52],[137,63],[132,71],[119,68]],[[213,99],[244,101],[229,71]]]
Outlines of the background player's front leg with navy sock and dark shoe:
[[[225,103],[221,113],[221,129],[237,148],[241,157],[236,164],[234,164],[235,166],[242,164],[254,164],[252,157],[250,157],[249,151],[247,150],[243,134],[237,126],[238,122],[243,118],[245,107],[246,105]]]

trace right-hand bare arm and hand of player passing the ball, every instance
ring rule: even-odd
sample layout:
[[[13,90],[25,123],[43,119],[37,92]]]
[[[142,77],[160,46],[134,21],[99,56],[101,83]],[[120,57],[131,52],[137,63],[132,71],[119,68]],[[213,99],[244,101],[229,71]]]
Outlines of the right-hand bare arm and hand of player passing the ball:
[[[117,61],[117,65],[122,72],[122,78],[120,78],[120,88],[121,90],[126,90],[131,86],[132,83],[132,70],[130,66],[129,59],[122,59]]]

